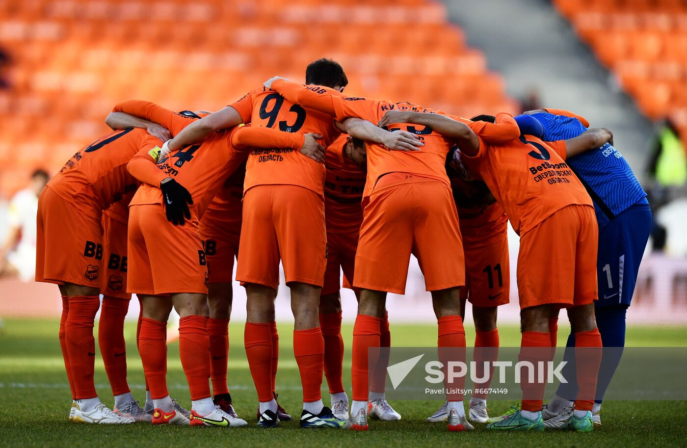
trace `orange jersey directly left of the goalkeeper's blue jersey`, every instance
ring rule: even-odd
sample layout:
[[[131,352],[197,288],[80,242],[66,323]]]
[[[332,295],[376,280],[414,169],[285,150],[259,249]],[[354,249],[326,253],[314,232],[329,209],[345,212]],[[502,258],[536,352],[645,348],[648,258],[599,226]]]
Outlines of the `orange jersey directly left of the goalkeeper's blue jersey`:
[[[565,163],[565,142],[527,135],[505,144],[485,144],[462,159],[479,175],[522,236],[567,205],[592,206],[592,199]]]

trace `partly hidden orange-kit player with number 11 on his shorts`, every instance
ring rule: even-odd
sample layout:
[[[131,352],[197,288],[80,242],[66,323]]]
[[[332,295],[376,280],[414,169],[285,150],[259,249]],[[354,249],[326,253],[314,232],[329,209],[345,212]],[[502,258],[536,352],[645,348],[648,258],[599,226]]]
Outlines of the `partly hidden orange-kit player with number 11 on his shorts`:
[[[378,125],[405,122],[413,115],[407,111],[387,111]],[[453,118],[471,126],[490,142],[505,143],[519,136],[518,129],[510,120],[491,124],[461,117]],[[458,209],[465,254],[465,287],[460,291],[461,317],[464,319],[465,302],[469,301],[475,322],[473,358],[477,378],[484,378],[484,362],[491,363],[498,359],[497,309],[509,302],[508,217],[484,181],[475,181],[460,157],[454,157],[452,151],[447,157],[446,172],[451,180],[453,200]],[[489,388],[492,374],[493,368],[486,381],[475,384],[468,414],[469,421],[473,423],[486,423],[488,420],[486,393],[482,390]],[[447,418],[447,403],[444,403],[427,421],[440,422]]]

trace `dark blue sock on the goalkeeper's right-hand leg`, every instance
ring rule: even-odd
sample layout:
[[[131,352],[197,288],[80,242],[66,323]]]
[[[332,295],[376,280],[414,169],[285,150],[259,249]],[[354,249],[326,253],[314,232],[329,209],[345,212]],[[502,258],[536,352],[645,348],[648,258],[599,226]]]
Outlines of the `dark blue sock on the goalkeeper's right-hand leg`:
[[[596,403],[601,403],[611,383],[613,374],[618,368],[625,346],[625,315],[627,306],[598,306],[596,308],[596,326],[601,333],[603,357],[596,382]]]

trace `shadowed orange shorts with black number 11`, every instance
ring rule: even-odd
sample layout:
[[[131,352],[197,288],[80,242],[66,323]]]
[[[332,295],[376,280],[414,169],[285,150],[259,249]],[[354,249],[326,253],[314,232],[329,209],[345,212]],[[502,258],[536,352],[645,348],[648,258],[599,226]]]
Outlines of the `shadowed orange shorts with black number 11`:
[[[508,236],[487,244],[465,246],[465,287],[460,297],[473,306],[499,306],[510,295]]]

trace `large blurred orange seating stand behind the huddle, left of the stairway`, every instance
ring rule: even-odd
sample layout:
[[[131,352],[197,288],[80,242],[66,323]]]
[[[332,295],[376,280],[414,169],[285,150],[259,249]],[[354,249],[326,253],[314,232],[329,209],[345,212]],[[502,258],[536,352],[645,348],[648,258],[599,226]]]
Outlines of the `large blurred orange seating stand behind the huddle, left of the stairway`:
[[[118,101],[217,110],[275,74],[302,81],[323,56],[342,63],[355,95],[516,112],[446,15],[427,0],[0,2],[0,46],[14,60],[0,91],[0,195],[106,132]]]

